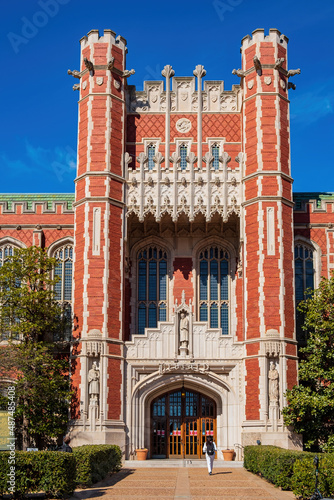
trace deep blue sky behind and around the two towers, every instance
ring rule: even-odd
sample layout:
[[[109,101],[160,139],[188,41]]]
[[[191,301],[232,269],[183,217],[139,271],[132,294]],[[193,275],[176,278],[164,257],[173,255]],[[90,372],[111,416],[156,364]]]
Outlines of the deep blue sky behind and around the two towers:
[[[44,10],[43,10],[44,7]],[[47,13],[46,13],[47,12]],[[2,5],[3,193],[74,192],[77,99],[68,69],[79,69],[79,40],[112,29],[128,42],[130,84],[177,76],[203,64],[231,89],[240,41],[256,28],[287,35],[294,191],[334,191],[333,0],[11,0]]]

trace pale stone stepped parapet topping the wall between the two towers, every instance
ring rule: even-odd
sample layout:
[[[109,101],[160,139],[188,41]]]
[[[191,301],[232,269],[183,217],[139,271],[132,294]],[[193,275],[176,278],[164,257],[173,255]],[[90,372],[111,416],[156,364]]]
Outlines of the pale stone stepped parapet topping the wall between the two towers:
[[[173,77],[170,91],[170,111],[194,112],[198,111],[198,92],[196,78]],[[232,90],[224,90],[224,82],[204,81],[204,90],[201,92],[202,111],[233,113],[241,109],[240,85],[233,85]],[[134,85],[128,86],[127,111],[128,113],[166,112],[167,91],[163,81],[146,81],[144,90],[137,91]]]

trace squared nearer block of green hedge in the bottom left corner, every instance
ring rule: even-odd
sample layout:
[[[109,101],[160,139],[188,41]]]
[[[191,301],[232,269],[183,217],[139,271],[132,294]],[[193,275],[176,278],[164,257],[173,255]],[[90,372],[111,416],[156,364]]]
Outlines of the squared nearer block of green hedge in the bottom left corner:
[[[48,496],[70,495],[75,489],[75,457],[56,451],[16,451],[15,465],[9,452],[0,453],[0,492],[11,492],[10,467],[15,467],[14,498],[44,491]]]

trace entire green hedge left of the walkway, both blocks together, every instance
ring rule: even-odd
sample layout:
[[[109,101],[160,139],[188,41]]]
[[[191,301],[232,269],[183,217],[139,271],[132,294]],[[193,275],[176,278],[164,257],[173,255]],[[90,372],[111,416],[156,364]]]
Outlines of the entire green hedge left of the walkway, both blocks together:
[[[15,452],[15,496],[45,492],[52,498],[71,495],[77,485],[91,486],[121,468],[118,446],[91,445],[57,451]],[[0,495],[10,493],[10,452],[0,452]]]

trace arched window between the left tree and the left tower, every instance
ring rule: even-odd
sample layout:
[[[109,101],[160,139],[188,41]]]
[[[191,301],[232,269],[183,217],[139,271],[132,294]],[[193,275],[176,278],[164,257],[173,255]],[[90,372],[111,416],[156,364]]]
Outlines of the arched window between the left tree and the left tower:
[[[72,282],[73,282],[73,247],[70,243],[58,247],[53,257],[57,259],[55,276],[59,281],[55,284],[55,299],[61,302],[64,315],[67,318],[66,331],[63,332],[66,340],[71,338],[72,325]]]

